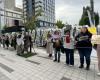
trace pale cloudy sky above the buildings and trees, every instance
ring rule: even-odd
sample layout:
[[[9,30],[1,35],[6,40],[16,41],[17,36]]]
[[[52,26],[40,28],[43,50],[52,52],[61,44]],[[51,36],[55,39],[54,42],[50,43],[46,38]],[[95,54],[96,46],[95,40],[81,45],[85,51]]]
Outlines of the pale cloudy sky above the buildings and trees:
[[[64,23],[78,24],[83,6],[90,5],[90,0],[55,0],[56,1],[56,20],[62,20]],[[94,0],[95,12],[100,14],[100,0]],[[22,0],[16,0],[16,4],[19,6],[22,4]]]

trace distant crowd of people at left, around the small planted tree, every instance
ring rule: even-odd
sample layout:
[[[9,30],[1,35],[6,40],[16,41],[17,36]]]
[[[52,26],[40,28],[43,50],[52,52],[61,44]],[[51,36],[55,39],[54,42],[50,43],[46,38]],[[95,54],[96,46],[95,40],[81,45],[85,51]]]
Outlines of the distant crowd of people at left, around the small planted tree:
[[[32,36],[26,32],[24,34],[3,34],[0,36],[0,46],[3,45],[3,48],[8,49],[13,47],[18,55],[23,55],[25,52],[30,53],[32,51]]]

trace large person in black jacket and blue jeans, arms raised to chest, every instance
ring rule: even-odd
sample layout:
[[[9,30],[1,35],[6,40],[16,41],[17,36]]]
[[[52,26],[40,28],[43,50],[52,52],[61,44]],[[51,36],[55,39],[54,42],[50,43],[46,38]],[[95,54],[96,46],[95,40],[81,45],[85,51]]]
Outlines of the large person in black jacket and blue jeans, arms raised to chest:
[[[76,36],[76,48],[79,51],[80,56],[80,66],[79,68],[84,68],[84,57],[86,59],[86,70],[90,69],[90,56],[92,51],[91,44],[92,34],[88,31],[87,27],[83,27],[81,32]]]

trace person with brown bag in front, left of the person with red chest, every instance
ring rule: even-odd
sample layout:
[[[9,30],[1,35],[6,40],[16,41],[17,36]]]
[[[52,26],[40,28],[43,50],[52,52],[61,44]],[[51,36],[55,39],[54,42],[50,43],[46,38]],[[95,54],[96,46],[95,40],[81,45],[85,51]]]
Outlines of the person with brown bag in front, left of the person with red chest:
[[[60,62],[61,39],[60,39],[58,31],[55,31],[54,35],[53,35],[53,48],[54,48],[54,52],[55,52],[54,53],[55,54],[54,62],[55,61]]]

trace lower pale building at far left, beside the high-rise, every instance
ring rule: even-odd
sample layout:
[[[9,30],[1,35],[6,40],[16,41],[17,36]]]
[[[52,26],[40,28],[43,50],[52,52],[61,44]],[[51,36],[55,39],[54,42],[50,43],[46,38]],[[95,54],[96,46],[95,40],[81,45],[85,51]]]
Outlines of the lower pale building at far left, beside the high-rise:
[[[15,6],[15,0],[2,0],[0,4],[0,24],[1,29],[4,26],[22,26],[22,9]]]

